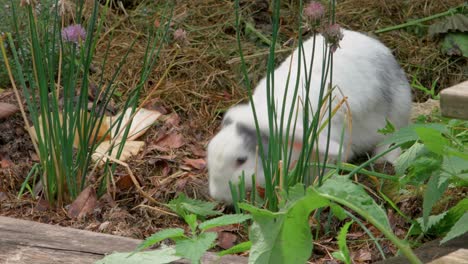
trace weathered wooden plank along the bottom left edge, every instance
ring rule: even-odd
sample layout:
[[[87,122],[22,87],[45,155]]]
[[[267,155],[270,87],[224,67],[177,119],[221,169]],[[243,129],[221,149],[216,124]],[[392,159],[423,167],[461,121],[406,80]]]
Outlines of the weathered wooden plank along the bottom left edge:
[[[0,216],[1,264],[94,263],[105,254],[132,251],[140,242],[138,239]],[[202,263],[214,261],[221,264],[247,263],[243,257],[225,256],[220,259],[209,252],[204,255]]]

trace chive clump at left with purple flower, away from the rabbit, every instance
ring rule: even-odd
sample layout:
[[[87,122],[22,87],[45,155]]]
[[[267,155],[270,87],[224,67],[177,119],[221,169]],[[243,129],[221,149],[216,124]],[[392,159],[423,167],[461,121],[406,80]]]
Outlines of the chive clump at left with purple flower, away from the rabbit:
[[[40,179],[45,198],[52,205],[61,206],[70,202],[90,184],[89,167],[92,154],[105,139],[112,137],[111,131],[123,131],[122,140],[112,142],[106,154],[117,153],[119,158],[129,133],[130,122],[123,122],[123,113],[113,118],[107,127],[105,109],[117,88],[118,78],[126,59],[136,41],[122,56],[117,70],[110,80],[104,78],[105,65],[109,56],[110,41],[102,60],[98,76],[98,95],[90,103],[88,94],[91,84],[91,65],[103,32],[110,1],[103,5],[93,1],[92,11],[84,17],[85,1],[76,1],[74,21],[66,19],[65,1],[44,1],[52,3],[50,9],[37,1],[11,0],[13,34],[6,33],[1,39],[2,55],[15,91],[22,88],[29,118],[22,111],[28,132],[33,138],[39,156]],[[169,4],[166,5],[170,10]],[[17,41],[25,31],[21,30],[20,14],[27,13],[27,41]],[[50,12],[47,19],[39,19],[38,12]],[[122,109],[131,109],[131,116],[137,110],[141,89],[157,61],[169,28],[166,17],[161,26],[148,33],[146,52],[142,61],[140,80],[129,93]],[[11,56],[5,47],[11,51]],[[31,57],[25,56],[31,54]],[[12,61],[12,63],[9,62]],[[14,65],[15,67],[10,67]],[[17,99],[21,105],[20,95]],[[30,121],[31,123],[30,123]],[[30,126],[34,126],[31,129]],[[35,139],[35,140],[34,140]],[[36,167],[35,167],[36,168]],[[112,174],[115,165],[105,164],[105,173]],[[106,177],[101,177],[106,179]],[[101,182],[101,186],[106,186]]]

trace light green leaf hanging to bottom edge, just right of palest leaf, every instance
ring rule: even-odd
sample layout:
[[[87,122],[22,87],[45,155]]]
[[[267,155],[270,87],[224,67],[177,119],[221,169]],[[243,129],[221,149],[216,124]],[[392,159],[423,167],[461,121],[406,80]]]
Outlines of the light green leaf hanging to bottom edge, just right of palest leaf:
[[[217,237],[216,233],[206,232],[197,237],[177,241],[176,254],[189,259],[192,263],[200,263],[201,257],[214,246]]]

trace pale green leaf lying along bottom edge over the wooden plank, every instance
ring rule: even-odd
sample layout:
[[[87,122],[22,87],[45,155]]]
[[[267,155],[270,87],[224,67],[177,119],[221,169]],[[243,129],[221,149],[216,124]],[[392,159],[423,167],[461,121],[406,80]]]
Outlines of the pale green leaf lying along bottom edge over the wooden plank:
[[[181,259],[175,255],[175,249],[166,247],[162,249],[138,252],[135,254],[112,253],[95,264],[166,264]]]

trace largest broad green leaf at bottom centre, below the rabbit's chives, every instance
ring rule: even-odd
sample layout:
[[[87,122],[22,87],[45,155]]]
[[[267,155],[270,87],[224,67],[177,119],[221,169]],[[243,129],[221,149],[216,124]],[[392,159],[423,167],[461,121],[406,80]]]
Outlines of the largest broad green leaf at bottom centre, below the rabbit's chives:
[[[278,213],[241,204],[254,220],[249,232],[252,241],[249,263],[305,263],[313,245],[309,215],[327,205],[329,202],[312,189]]]

